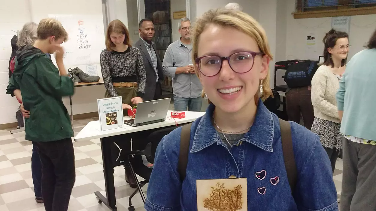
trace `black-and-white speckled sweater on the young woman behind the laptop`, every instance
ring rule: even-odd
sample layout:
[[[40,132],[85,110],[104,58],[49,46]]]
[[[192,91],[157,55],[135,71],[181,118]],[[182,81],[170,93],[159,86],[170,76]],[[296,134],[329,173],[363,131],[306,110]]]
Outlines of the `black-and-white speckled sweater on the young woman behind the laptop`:
[[[118,96],[113,82],[137,82],[137,96],[143,98],[146,86],[146,72],[141,52],[136,47],[128,47],[124,52],[109,51],[100,53],[100,68],[103,82],[112,97]]]

